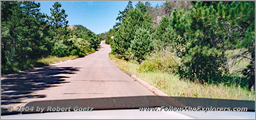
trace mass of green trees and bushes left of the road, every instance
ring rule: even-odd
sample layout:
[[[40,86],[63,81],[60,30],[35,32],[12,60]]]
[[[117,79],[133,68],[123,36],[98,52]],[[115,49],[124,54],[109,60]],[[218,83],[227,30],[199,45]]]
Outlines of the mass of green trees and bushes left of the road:
[[[50,17],[40,13],[39,7],[34,1],[1,1],[1,69],[25,70],[30,68],[29,60],[82,57],[98,48],[100,37],[82,25],[67,30],[68,15],[60,3],[54,3]]]

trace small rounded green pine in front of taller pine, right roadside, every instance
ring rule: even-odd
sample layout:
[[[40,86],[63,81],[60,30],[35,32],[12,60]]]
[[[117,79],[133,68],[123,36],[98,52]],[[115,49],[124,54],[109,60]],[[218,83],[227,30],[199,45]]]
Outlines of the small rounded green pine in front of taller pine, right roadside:
[[[138,29],[135,33],[134,40],[128,49],[132,53],[132,57],[138,62],[144,60],[144,56],[148,55],[153,49],[153,40],[148,30]],[[133,59],[133,58],[132,58]]]

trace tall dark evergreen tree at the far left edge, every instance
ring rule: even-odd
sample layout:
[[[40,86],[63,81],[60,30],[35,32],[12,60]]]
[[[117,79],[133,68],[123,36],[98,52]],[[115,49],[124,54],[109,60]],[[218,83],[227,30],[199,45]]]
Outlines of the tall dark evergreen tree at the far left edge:
[[[17,1],[1,1],[1,60],[11,64],[15,61],[16,44],[19,37],[20,19],[23,14]]]

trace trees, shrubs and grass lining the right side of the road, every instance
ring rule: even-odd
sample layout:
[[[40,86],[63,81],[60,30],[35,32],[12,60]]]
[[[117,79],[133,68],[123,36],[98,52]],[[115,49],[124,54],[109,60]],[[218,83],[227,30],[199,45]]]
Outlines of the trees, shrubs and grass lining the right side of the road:
[[[110,58],[171,96],[255,100],[255,1],[129,1]]]

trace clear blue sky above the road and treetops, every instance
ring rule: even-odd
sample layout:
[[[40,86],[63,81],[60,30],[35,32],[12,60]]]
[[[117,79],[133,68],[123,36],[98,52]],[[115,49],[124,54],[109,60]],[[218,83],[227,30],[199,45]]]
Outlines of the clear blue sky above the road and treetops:
[[[51,15],[50,8],[56,1],[36,1],[41,4],[40,11]],[[99,34],[115,25],[119,10],[123,11],[128,1],[58,1],[61,9],[68,14],[68,25],[81,24],[92,32]],[[145,3],[146,1],[142,1]],[[161,5],[165,1],[149,1],[151,6]],[[132,1],[133,7],[138,1]]]

